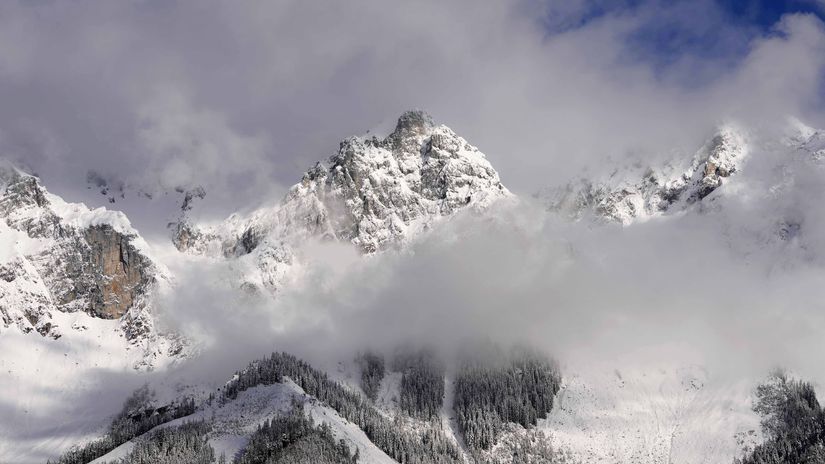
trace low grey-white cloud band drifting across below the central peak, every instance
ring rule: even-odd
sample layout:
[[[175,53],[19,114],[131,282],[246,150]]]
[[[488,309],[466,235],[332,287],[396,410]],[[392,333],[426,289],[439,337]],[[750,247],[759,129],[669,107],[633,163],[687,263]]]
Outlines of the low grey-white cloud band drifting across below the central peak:
[[[314,270],[274,302],[182,282],[169,317],[209,340],[193,369],[213,381],[272,350],[347,360],[409,343],[451,352],[479,338],[534,345],[573,371],[697,363],[717,378],[759,378],[785,366],[825,380],[825,249],[815,236],[762,243],[748,233],[768,233],[776,205],[723,203],[724,214],[627,228],[570,223],[529,201],[501,205],[495,219],[462,215],[402,252],[318,254],[307,261]],[[760,219],[738,219],[754,213]],[[210,269],[192,282],[225,281]]]

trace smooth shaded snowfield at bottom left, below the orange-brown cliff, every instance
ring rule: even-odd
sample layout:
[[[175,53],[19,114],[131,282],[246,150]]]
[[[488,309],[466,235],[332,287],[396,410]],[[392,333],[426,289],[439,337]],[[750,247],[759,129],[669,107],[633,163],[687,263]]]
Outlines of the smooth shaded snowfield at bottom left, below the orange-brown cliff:
[[[126,340],[118,321],[80,312],[52,317],[64,328],[57,340],[36,332],[0,335],[4,463],[44,462],[99,437],[125,394],[141,382],[133,366],[145,352]],[[162,360],[156,368],[164,367]],[[121,383],[129,378],[132,385]]]

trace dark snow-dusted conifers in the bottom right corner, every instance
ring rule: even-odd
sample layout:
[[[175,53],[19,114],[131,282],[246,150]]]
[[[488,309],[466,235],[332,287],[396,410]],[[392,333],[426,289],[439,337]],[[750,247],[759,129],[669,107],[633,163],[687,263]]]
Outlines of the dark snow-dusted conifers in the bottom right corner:
[[[810,383],[778,374],[756,391],[765,443],[739,464],[825,464],[825,411]]]

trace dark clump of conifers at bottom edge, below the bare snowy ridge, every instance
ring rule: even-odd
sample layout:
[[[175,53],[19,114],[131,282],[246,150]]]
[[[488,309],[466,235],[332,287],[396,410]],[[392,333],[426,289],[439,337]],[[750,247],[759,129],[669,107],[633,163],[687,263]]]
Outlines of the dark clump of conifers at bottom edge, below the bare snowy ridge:
[[[344,441],[335,441],[327,424],[316,427],[294,404],[291,413],[264,422],[249,439],[236,464],[353,464]]]

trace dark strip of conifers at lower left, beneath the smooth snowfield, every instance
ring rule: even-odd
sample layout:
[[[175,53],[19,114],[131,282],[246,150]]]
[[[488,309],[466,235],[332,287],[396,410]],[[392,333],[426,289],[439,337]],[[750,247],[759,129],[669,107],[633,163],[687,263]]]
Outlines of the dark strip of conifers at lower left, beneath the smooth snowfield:
[[[103,438],[80,447],[73,447],[55,464],[85,464],[93,461],[138,435],[154,427],[195,412],[195,402],[184,398],[180,402],[165,406],[153,406],[154,392],[148,386],[135,390],[124,402],[120,413],[115,416],[109,432]]]

